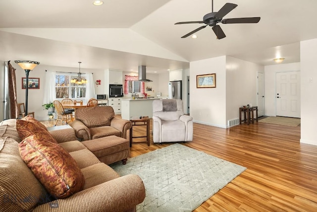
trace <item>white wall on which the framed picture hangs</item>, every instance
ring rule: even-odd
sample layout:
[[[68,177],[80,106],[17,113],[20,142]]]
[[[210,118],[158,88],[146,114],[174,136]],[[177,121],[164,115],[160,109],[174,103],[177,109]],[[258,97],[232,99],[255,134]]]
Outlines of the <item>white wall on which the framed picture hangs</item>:
[[[216,73],[215,88],[197,88],[196,75]],[[196,123],[226,127],[226,56],[190,63],[190,115]]]

